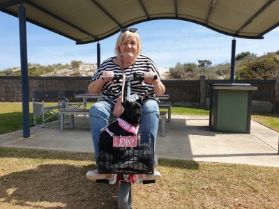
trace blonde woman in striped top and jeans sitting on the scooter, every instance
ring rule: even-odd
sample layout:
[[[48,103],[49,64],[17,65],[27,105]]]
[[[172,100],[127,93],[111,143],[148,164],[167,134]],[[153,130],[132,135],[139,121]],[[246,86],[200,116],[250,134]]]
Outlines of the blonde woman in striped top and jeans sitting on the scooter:
[[[151,132],[156,140],[160,114],[156,95],[163,95],[165,86],[160,81],[156,65],[148,57],[140,55],[141,50],[142,44],[137,29],[121,29],[121,33],[116,40],[116,56],[107,59],[100,65],[88,86],[89,93],[101,93],[102,95],[102,98],[93,104],[89,111],[96,160],[100,130],[107,125],[114,104],[121,95],[122,87],[121,82],[114,82],[112,78],[102,78],[101,76],[113,77],[123,73],[129,76],[133,75],[134,72],[151,76],[144,78],[143,82],[132,82],[131,95],[137,93],[143,99],[141,130],[142,132]],[[154,75],[157,75],[158,79],[153,79]],[[156,141],[154,143],[156,144]],[[160,173],[157,172],[157,174]],[[95,180],[105,178],[105,175],[100,175],[98,171],[94,170],[89,171],[86,177]]]

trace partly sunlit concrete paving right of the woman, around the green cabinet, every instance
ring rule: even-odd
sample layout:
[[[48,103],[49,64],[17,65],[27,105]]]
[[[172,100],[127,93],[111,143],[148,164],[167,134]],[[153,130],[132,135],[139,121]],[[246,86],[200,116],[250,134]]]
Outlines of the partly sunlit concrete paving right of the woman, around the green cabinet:
[[[157,137],[158,157],[279,167],[278,132],[251,121],[251,133],[212,132],[208,116],[175,116],[167,137]]]

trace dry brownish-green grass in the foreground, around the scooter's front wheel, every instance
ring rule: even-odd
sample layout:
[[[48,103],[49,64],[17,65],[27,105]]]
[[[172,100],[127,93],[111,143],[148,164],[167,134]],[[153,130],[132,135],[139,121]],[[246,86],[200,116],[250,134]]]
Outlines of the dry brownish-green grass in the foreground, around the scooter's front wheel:
[[[92,153],[0,148],[0,208],[112,208],[117,185],[85,178]],[[278,208],[279,168],[159,159],[156,184],[133,185],[133,208]]]

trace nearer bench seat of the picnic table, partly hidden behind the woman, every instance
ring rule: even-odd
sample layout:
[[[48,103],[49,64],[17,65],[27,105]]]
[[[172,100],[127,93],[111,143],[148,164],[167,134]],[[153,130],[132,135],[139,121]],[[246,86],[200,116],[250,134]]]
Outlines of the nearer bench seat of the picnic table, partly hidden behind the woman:
[[[75,127],[75,115],[89,115],[89,109],[62,109],[59,112],[60,114],[60,130],[61,132],[64,131],[64,124],[65,124],[65,115],[70,115],[70,127]],[[161,137],[165,137],[165,121],[166,121],[166,114],[167,111],[160,111],[159,118],[162,119],[162,132]]]

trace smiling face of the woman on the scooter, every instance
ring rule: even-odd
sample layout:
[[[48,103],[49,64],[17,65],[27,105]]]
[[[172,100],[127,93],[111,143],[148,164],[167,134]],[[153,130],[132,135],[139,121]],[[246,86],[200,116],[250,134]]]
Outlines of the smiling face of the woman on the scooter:
[[[120,53],[122,54],[123,59],[136,59],[137,58],[137,40],[136,40],[136,38],[123,42],[120,45]]]

